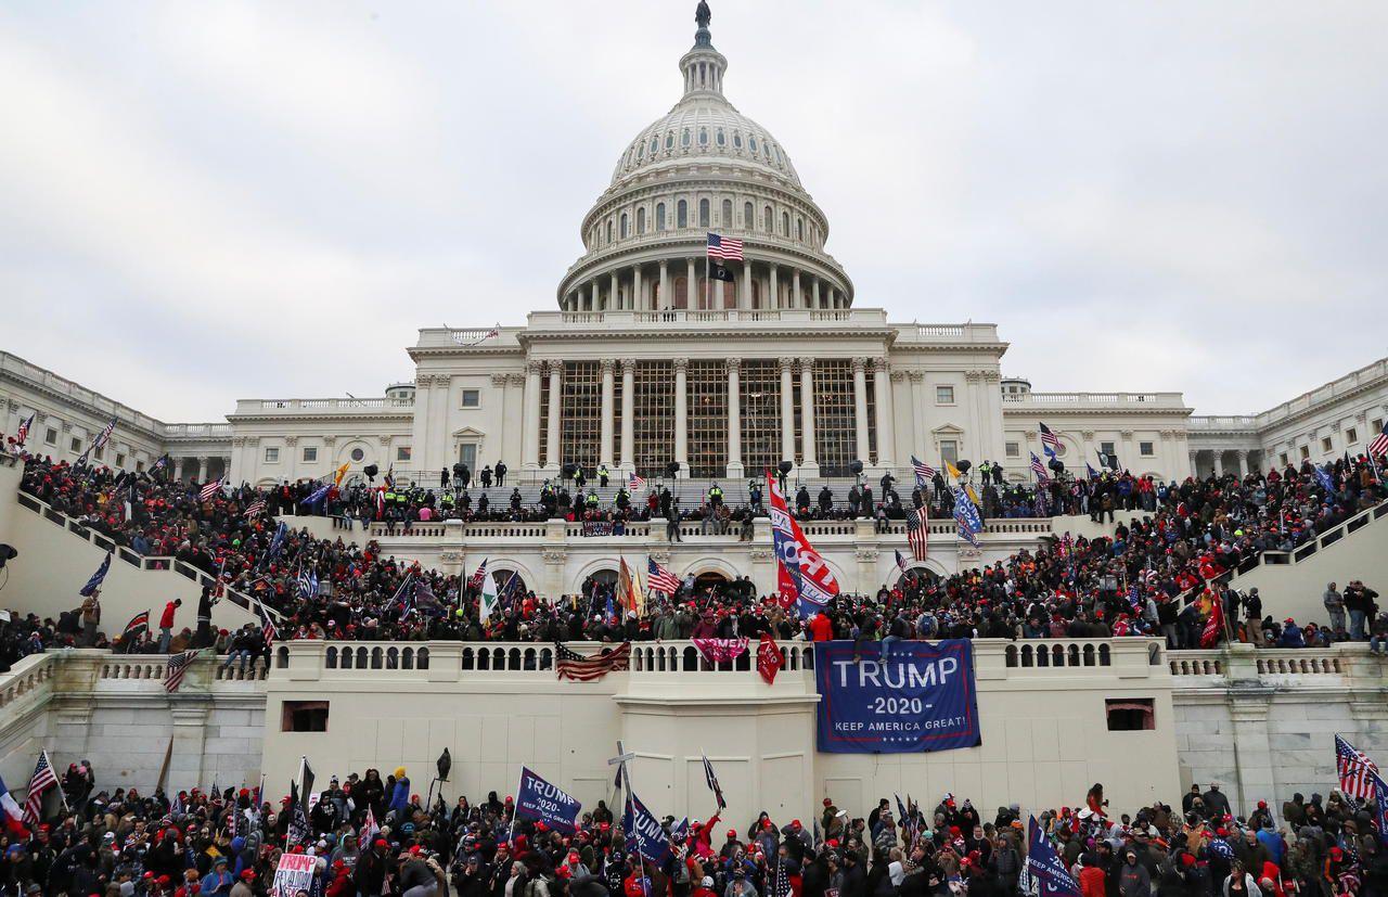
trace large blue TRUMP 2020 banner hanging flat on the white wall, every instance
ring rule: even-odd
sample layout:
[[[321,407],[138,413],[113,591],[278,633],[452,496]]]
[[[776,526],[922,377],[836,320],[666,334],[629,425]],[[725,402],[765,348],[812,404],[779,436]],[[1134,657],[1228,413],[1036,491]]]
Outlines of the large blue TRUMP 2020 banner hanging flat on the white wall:
[[[815,643],[819,750],[826,754],[906,754],[977,747],[979,697],[973,643]]]

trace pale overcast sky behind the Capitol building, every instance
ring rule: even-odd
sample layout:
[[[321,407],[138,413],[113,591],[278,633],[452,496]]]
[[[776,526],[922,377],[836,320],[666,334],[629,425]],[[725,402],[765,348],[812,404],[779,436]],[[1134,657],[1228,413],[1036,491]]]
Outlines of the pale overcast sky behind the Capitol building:
[[[711,0],[861,307],[1260,411],[1385,354],[1388,4]],[[0,4],[0,349],[165,421],[555,308],[693,0]]]

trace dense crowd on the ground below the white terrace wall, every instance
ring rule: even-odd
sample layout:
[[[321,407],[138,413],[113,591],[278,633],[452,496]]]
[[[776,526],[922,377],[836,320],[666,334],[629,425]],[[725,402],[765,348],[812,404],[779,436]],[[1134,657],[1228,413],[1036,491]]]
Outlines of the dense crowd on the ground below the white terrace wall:
[[[1038,890],[1029,854],[1052,851],[1067,878],[1048,873],[1047,894],[1388,893],[1371,807],[1334,790],[1246,814],[1217,783],[1130,812],[1110,810],[1101,783],[1073,807],[1027,812],[945,794],[929,810],[881,798],[854,816],[830,794],[805,821],[665,816],[669,851],[643,854],[620,791],[568,826],[518,814],[498,791],[448,805],[430,786],[422,800],[405,768],[335,775],[303,804],[297,787],[279,801],[244,785],[99,789],[85,761],[62,782],[65,800],[50,797],[37,825],[0,835],[4,897],[264,897],[286,853],[311,858],[316,880],[301,893],[326,897],[1017,897]]]

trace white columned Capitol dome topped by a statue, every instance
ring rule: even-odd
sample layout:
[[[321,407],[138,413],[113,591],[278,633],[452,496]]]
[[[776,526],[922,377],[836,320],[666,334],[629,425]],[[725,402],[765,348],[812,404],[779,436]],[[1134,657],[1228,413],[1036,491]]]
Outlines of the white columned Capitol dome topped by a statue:
[[[701,15],[706,6],[701,6]],[[559,282],[565,311],[848,308],[824,251],[829,219],[776,137],[723,96],[708,17],[680,58],[684,93],[618,158],[583,218],[586,253]],[[711,235],[741,242],[708,280]]]

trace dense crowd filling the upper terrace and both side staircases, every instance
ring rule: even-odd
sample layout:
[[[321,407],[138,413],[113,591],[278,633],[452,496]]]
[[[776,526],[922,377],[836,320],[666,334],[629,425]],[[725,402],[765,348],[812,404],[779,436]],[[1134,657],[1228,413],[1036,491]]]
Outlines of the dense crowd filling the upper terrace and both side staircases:
[[[876,594],[843,594],[804,619],[776,596],[756,594],[745,578],[708,590],[686,585],[673,596],[652,594],[640,614],[613,601],[611,580],[589,579],[579,593],[552,598],[508,583],[514,587],[504,587],[501,611],[483,619],[476,576],[422,568],[383,554],[375,542],[358,547],[279,528],[273,514],[301,510],[307,497],[291,486],[204,490],[158,475],[28,457],[21,487],[119,546],[178,558],[253,596],[282,615],[279,639],[622,642],[756,639],[766,632],[777,639],[870,642],[1155,635],[1190,648],[1226,640],[1302,647],[1377,636],[1374,647],[1388,650],[1388,618],[1378,612],[1377,592],[1363,583],[1344,592],[1332,583],[1324,598],[1328,619],[1316,623],[1274,619],[1263,612],[1256,589],[1242,594],[1224,582],[1246,558],[1302,544],[1388,497],[1366,460],[1337,461],[1326,471],[1306,464],[1242,479],[1191,478],[1155,490],[1124,489],[1128,479],[1124,473],[1085,486],[1088,503],[1151,504],[1149,514],[1117,525],[1112,537],[1065,536],[942,578],[909,569]],[[311,582],[307,590],[305,582]],[[101,619],[99,596],[56,618],[17,615],[0,632],[0,662],[50,644],[115,644],[132,653],[217,647],[246,662],[266,646],[257,642],[255,626],[242,632],[210,626],[218,592],[204,589],[196,608],[174,603],[162,612],[155,608],[158,626],[151,619],[146,632],[128,639],[111,629],[125,621]],[[1216,605],[1221,625],[1212,628]]]

